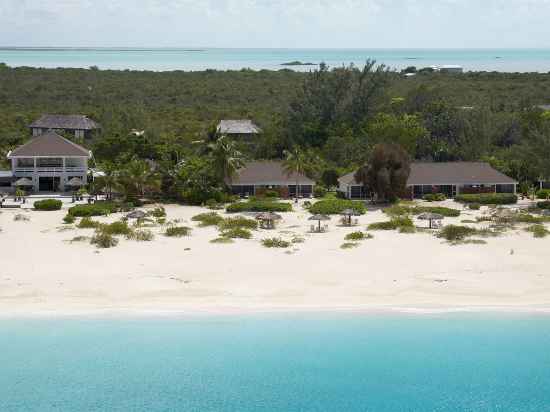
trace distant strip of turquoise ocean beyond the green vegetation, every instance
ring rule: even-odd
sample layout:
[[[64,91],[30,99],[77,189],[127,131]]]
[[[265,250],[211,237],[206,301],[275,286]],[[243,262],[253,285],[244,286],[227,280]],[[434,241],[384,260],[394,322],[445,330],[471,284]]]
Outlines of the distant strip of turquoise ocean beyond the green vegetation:
[[[549,72],[550,49],[128,49],[128,48],[0,48],[0,62],[12,67],[97,66],[116,70],[284,68],[300,61],[331,67],[362,65],[374,59],[394,69],[460,65],[466,71]],[[291,66],[311,70],[315,66]]]

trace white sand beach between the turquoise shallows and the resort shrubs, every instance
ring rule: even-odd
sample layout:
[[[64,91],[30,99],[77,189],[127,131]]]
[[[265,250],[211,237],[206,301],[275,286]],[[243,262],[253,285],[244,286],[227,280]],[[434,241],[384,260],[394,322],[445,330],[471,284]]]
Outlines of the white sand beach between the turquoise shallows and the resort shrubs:
[[[355,228],[338,226],[334,217],[327,233],[310,234],[309,215],[298,209],[283,214],[277,229],[254,231],[251,240],[212,244],[217,229],[191,221],[206,209],[169,205],[168,219],[193,227],[191,236],[167,238],[154,228],[152,242],[121,238],[112,249],[71,243],[93,230],[67,228],[66,210],[3,209],[0,314],[550,309],[548,238],[535,239],[518,227],[486,245],[451,246],[433,234],[377,231],[374,239],[343,250],[347,233],[387,217],[369,211]],[[30,220],[14,221],[18,213]],[[464,211],[444,222],[479,213]],[[290,249],[260,243],[296,235],[305,241]]]

